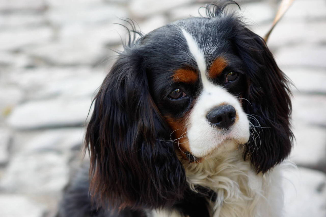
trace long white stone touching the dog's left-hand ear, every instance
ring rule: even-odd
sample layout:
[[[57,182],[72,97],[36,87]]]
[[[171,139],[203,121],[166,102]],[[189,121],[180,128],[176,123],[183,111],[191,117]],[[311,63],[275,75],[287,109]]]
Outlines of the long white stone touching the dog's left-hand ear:
[[[16,129],[82,126],[91,105],[91,98],[59,98],[30,101],[17,106],[7,119]]]

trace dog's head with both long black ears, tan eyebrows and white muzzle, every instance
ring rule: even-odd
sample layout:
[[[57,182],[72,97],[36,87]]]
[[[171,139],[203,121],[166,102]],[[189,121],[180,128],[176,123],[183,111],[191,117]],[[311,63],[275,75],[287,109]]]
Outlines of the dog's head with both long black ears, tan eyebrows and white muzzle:
[[[158,28],[119,55],[86,133],[100,201],[173,204],[186,188],[181,158],[200,163],[238,148],[265,173],[288,156],[287,79],[264,40],[225,14],[226,5]]]

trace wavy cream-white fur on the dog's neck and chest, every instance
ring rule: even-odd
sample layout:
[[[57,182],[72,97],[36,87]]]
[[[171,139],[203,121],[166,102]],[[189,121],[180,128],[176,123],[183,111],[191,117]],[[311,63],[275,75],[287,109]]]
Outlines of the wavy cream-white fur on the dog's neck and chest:
[[[216,192],[216,199],[210,201],[212,216],[278,216],[274,209],[281,210],[283,203],[278,173],[256,174],[243,160],[242,150],[182,163],[193,191],[200,185]]]

